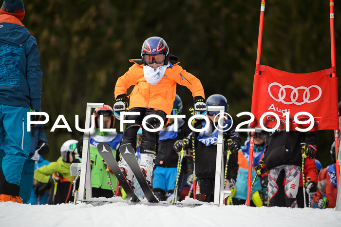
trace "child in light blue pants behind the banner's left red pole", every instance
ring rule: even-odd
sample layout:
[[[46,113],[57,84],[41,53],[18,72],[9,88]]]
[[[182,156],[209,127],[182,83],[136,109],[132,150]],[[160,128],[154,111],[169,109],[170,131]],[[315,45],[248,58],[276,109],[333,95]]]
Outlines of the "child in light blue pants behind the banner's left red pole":
[[[249,132],[248,132],[249,133]],[[254,148],[253,148],[253,166],[259,165],[264,150],[265,150],[265,132],[262,129],[255,129],[254,136]],[[249,138],[245,141],[245,146],[238,152],[238,176],[236,181],[235,194],[232,197],[233,205],[244,205],[246,203],[247,194],[247,177],[248,177],[248,160],[250,154],[250,140]],[[256,176],[256,171],[252,170],[252,180]],[[264,191],[261,186],[261,182],[257,177],[251,190],[251,201],[252,207],[263,206],[263,200],[265,199]]]

